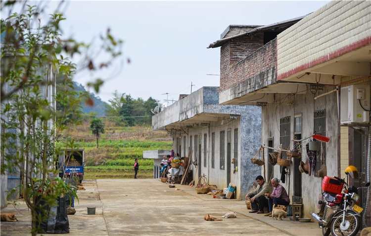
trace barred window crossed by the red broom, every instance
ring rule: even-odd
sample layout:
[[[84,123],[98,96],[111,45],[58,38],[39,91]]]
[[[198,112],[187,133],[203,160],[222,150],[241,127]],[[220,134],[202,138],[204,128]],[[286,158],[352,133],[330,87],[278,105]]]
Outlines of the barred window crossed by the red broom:
[[[326,136],[326,110],[319,110],[314,112],[314,134]],[[316,165],[314,167],[314,176],[318,176],[318,171],[321,169],[322,163],[326,163],[326,143],[322,142],[322,148],[317,152]]]

